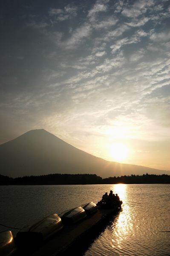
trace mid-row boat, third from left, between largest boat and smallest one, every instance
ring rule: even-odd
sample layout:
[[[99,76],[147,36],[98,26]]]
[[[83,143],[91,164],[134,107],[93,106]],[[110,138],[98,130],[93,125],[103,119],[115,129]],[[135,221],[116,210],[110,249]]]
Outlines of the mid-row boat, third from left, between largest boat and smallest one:
[[[80,206],[80,207],[73,208],[69,211],[61,212],[59,216],[61,217],[64,223],[73,224],[86,218],[86,212]]]

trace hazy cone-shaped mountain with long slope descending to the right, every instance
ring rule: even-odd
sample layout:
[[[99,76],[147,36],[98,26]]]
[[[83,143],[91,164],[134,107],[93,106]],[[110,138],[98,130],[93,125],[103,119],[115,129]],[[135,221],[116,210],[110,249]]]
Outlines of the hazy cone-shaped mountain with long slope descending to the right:
[[[109,162],[88,154],[45,131],[32,130],[0,145],[0,174],[26,175],[96,174],[101,177],[170,174],[144,166]]]

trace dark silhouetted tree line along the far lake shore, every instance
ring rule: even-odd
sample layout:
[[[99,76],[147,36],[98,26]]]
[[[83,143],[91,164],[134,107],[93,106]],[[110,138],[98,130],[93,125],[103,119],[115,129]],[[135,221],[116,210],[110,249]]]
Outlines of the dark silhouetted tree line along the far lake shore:
[[[170,184],[170,175],[128,175],[102,179],[95,174],[49,174],[12,178],[0,175],[0,185],[75,185],[75,184]]]

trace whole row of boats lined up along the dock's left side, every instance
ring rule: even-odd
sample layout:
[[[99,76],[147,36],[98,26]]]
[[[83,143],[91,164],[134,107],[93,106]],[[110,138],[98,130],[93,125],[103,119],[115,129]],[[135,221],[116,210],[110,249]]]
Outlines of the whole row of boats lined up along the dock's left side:
[[[64,225],[75,224],[97,210],[97,205],[90,202],[59,215],[54,213],[34,224],[23,227],[17,233],[15,239],[10,230],[0,232],[0,256],[11,256],[17,248],[22,249],[25,246],[37,247],[43,244],[43,241],[58,233]]]

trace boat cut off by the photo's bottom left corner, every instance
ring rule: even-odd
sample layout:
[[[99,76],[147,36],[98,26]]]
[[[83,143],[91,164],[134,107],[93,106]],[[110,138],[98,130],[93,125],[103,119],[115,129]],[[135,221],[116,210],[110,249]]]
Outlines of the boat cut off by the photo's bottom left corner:
[[[10,230],[0,232],[0,256],[11,256],[16,250],[12,232]]]

